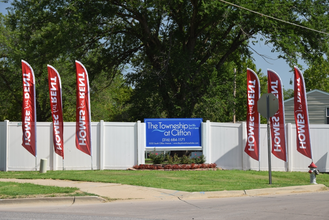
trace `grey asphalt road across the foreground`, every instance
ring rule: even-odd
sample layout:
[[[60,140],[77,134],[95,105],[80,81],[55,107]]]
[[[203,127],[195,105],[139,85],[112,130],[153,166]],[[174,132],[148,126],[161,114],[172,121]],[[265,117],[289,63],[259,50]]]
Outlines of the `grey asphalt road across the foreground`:
[[[203,200],[0,206],[0,219],[329,219],[329,191]]]

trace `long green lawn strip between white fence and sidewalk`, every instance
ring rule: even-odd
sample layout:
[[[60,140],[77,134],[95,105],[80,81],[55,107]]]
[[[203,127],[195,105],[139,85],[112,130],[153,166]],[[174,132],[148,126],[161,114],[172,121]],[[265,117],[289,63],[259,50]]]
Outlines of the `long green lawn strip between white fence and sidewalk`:
[[[48,171],[47,173],[0,172],[0,178],[61,179],[105,183],[122,183],[188,192],[247,190],[267,187],[309,185],[307,172],[272,172],[269,184],[268,172],[218,170],[218,171]],[[329,186],[329,175],[317,176],[317,183]],[[1,194],[1,189],[0,189]]]

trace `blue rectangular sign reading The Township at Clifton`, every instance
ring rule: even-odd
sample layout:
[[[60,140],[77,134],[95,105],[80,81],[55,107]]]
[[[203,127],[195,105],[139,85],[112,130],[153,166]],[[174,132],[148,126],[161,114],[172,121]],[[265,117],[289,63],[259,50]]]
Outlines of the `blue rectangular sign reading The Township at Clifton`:
[[[202,118],[147,118],[146,147],[201,147]]]

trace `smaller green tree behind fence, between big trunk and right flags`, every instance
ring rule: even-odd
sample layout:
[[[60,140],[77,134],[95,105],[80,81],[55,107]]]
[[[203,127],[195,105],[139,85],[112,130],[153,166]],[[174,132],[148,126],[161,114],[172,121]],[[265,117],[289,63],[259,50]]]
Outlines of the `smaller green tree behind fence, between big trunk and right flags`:
[[[239,62],[226,63],[225,77],[214,77],[208,86],[209,92],[204,95],[194,110],[195,117],[216,122],[245,121],[247,114],[247,68],[255,71],[261,84],[261,93],[267,93],[267,78],[257,70],[255,64],[247,57],[237,57]],[[235,69],[235,74],[234,74]],[[224,75],[224,74],[223,74]],[[236,95],[234,97],[234,82]]]

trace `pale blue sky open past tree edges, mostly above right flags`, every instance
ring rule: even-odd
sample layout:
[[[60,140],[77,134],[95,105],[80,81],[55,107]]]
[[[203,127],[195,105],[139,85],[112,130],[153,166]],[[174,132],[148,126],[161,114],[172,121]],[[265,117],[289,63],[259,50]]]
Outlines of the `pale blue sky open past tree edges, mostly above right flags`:
[[[9,1],[10,2],[10,1]],[[6,14],[6,8],[10,6],[10,3],[0,2],[0,12]],[[278,59],[279,53],[271,52],[271,45],[264,45],[262,42],[257,43],[256,45],[250,45],[254,50],[256,50],[259,54],[263,54],[266,57],[270,57],[267,62],[257,53],[253,54],[254,62],[256,64],[256,68],[261,69],[264,76],[267,75],[267,69],[271,69],[279,74],[281,77],[281,81],[284,89],[293,89],[293,85],[290,85],[290,79],[293,80],[293,69],[289,67],[284,59]],[[307,69],[307,66],[300,61],[303,66],[303,71]],[[254,70],[256,71],[256,70]]]

